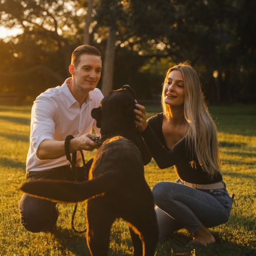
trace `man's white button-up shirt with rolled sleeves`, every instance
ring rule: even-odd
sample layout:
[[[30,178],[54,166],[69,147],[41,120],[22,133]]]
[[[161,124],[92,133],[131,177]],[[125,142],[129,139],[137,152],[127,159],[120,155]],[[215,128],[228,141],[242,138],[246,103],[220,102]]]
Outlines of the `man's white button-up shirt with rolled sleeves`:
[[[44,140],[65,140],[67,135],[78,137],[91,133],[92,129],[97,134],[100,130],[96,127],[96,121],[91,116],[91,111],[98,108],[103,95],[95,88],[89,92],[86,101],[81,108],[71,94],[67,82],[62,86],[50,88],[41,93],[34,101],[31,111],[30,146],[27,155],[27,172],[49,170],[58,166],[67,165],[66,156],[58,159],[39,160],[37,150]],[[83,151],[86,154],[86,151]],[[80,153],[77,154],[81,160]]]

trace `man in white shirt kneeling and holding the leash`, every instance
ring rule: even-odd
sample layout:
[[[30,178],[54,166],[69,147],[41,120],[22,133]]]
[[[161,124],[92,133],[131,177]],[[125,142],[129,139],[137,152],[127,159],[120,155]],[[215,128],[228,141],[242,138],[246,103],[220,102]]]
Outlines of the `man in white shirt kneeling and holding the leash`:
[[[65,138],[73,135],[70,152],[93,151],[92,128],[99,133],[91,110],[97,108],[102,93],[96,88],[102,62],[100,52],[82,45],[72,53],[68,78],[62,86],[48,89],[34,101],[31,113],[27,182],[38,179],[72,180],[65,156]],[[81,155],[77,162],[81,162]],[[79,174],[78,174],[79,175]],[[80,173],[80,176],[82,173]],[[32,232],[51,230],[58,219],[56,203],[23,195],[19,211],[24,227]]]

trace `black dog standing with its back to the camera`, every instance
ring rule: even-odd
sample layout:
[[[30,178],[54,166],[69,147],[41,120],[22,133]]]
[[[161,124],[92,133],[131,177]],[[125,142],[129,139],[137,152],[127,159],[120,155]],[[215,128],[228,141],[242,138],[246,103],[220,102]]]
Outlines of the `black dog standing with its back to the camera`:
[[[116,218],[129,223],[136,255],[154,255],[158,226],[144,162],[150,161],[134,123],[134,92],[123,86],[108,94],[92,117],[101,128],[89,181],[34,181],[22,190],[55,202],[87,202],[87,244],[92,255],[107,255],[110,230]],[[142,154],[141,154],[142,153]]]

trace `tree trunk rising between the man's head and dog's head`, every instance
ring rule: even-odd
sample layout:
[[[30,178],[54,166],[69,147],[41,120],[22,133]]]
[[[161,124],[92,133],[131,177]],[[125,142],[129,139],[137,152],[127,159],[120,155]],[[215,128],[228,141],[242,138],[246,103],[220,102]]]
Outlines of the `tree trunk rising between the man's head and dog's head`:
[[[109,37],[106,42],[105,58],[103,64],[103,77],[101,91],[105,96],[113,89],[113,73],[115,60],[116,34],[113,28],[109,28]]]

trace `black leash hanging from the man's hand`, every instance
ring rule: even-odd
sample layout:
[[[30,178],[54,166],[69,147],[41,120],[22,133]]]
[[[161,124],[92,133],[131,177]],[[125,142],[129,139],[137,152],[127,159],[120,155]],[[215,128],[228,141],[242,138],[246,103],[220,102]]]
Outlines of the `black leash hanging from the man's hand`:
[[[72,153],[72,159],[71,159],[71,156],[70,156],[70,151],[69,151],[69,145],[70,145],[70,141],[74,139],[74,136],[72,135],[68,135],[65,139],[65,143],[64,143],[64,146],[65,146],[65,153],[66,153],[66,158],[67,160],[69,161],[70,163],[70,166],[71,166],[71,170],[73,172],[73,175],[74,175],[74,180],[75,182],[78,182],[78,177],[77,177],[77,172],[76,172],[76,152]],[[83,156],[83,153],[82,151],[80,151],[81,153],[81,156],[82,156],[82,163],[83,163],[83,167],[86,165],[86,161],[84,160],[84,156]],[[87,175],[87,179],[88,179],[88,175]],[[75,214],[76,214],[76,209],[77,209],[77,204],[75,204],[75,207],[74,207],[74,210],[73,210],[73,214],[72,214],[72,219],[71,219],[71,226],[72,226],[72,230],[77,233],[77,234],[81,234],[81,233],[84,233],[86,232],[87,228],[81,230],[81,231],[78,231],[77,229],[75,229],[74,227],[74,219],[75,219]]]

